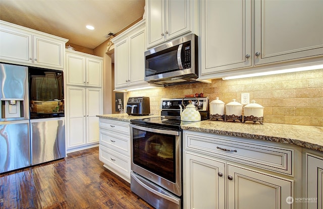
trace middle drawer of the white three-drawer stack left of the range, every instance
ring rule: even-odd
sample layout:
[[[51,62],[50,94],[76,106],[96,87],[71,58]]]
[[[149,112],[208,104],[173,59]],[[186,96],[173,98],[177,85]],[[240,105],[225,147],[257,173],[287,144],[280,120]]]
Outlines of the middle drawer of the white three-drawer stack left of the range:
[[[100,129],[100,145],[109,147],[130,157],[130,136],[121,135],[111,130]]]

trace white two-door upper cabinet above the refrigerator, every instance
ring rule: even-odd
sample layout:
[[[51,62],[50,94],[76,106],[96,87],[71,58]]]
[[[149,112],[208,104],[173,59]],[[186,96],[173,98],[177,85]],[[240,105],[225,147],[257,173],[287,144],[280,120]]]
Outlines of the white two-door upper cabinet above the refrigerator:
[[[0,61],[64,69],[67,39],[0,21]]]

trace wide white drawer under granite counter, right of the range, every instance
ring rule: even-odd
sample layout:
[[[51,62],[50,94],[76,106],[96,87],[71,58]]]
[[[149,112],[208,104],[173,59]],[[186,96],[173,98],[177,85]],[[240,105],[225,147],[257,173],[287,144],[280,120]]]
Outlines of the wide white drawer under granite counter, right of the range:
[[[294,150],[255,145],[223,135],[185,133],[185,149],[293,175]],[[262,144],[265,142],[262,142]]]

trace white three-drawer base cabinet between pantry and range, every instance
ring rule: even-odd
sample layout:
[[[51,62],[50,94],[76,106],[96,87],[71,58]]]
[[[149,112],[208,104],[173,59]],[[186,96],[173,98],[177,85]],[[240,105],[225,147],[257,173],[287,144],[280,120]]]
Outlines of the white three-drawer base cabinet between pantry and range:
[[[99,160],[130,183],[129,122],[99,119]]]

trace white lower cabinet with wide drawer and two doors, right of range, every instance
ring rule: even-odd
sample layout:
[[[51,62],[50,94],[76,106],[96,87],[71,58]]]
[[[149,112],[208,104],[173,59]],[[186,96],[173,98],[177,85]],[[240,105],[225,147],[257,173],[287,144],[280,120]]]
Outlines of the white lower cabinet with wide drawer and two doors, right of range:
[[[255,153],[259,162],[241,160],[256,159]],[[287,172],[267,169],[256,165],[264,163],[260,159],[267,166],[275,167],[280,161],[290,167]],[[296,159],[301,159],[299,149],[184,130],[184,208],[301,208],[286,201],[294,195],[294,188],[301,190],[294,180],[301,176],[293,165]]]

